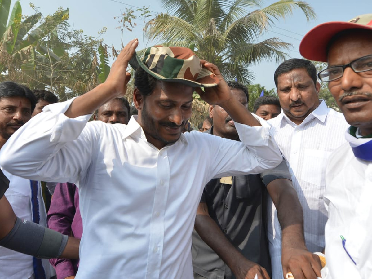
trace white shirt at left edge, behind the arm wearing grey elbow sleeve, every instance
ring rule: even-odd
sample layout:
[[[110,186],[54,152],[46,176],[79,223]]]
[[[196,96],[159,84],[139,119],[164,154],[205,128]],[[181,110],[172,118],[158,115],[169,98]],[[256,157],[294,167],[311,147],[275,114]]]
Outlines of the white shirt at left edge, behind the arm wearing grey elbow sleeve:
[[[31,203],[31,182],[28,179],[14,176],[6,170],[3,171],[9,179],[9,188],[5,196],[12,205],[13,211],[17,217],[32,222],[32,203]],[[38,184],[38,202],[39,202],[39,224],[47,227],[47,212],[41,194],[41,187]],[[33,275],[32,256],[18,253],[0,246],[0,278],[20,279],[30,278]],[[45,274],[50,278],[52,267],[48,260],[42,260]],[[54,273],[55,274],[55,273]]]

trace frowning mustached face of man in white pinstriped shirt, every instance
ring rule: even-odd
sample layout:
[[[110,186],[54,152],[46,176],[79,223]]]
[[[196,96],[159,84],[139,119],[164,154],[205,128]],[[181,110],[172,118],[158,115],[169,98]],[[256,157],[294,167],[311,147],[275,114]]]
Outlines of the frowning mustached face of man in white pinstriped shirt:
[[[319,105],[320,84],[305,68],[297,68],[278,76],[278,96],[283,112],[297,125]]]

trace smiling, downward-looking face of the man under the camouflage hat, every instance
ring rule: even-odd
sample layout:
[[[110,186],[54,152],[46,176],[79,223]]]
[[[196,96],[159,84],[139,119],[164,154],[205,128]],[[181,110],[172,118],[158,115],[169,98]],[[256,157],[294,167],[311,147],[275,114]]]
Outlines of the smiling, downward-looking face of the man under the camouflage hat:
[[[193,88],[180,83],[158,82],[149,96],[134,92],[138,123],[147,141],[158,149],[176,142],[191,116]]]

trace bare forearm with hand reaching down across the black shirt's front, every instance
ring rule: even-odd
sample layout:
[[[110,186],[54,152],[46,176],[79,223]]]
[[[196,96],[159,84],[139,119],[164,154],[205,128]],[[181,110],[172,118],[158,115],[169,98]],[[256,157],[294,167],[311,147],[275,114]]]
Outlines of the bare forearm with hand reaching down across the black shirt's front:
[[[230,267],[238,279],[253,279],[257,274],[259,279],[269,279],[266,270],[247,260],[226,238],[216,222],[209,216],[205,202],[199,203],[196,211],[195,230],[202,240]]]

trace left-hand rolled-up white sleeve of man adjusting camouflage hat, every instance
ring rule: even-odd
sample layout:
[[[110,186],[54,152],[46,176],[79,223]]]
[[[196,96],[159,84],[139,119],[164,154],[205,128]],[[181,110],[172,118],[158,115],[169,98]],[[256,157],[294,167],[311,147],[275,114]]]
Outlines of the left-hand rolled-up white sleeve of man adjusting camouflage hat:
[[[91,115],[64,115],[72,101],[46,106],[19,128],[1,148],[1,167],[32,180],[77,181],[90,161],[96,135],[89,129],[82,132]]]

